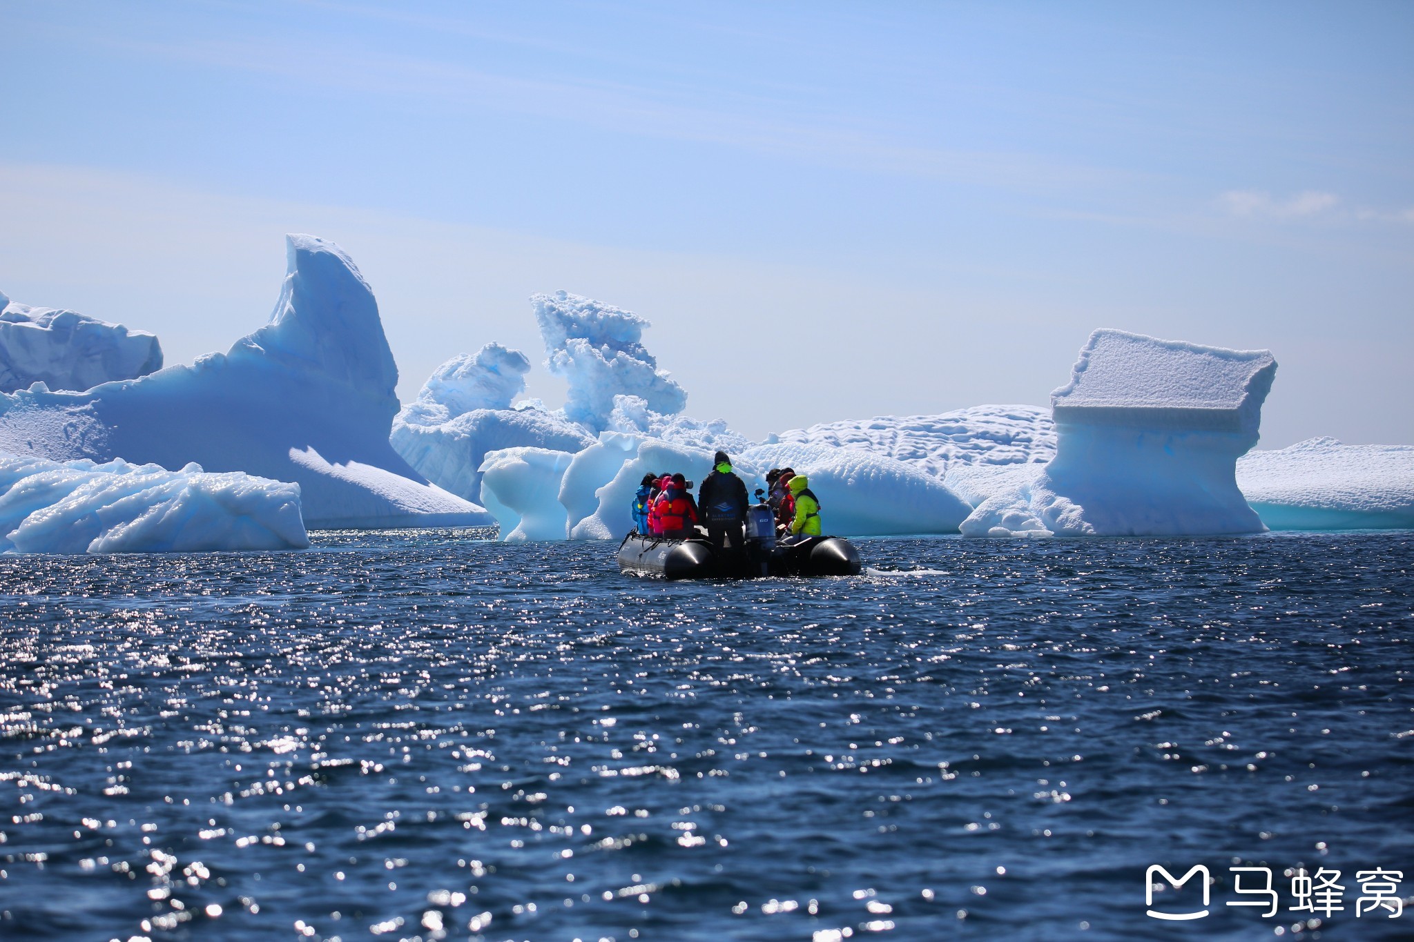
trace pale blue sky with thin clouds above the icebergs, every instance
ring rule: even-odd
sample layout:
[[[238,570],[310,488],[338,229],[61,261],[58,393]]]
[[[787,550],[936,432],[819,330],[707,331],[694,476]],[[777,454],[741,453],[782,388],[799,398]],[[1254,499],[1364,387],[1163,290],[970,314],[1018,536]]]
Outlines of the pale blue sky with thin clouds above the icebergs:
[[[1271,349],[1264,446],[1414,442],[1407,3],[0,0],[0,291],[170,363],[314,232],[404,400],[539,362],[564,288],[752,435],[1045,404],[1113,326]]]

